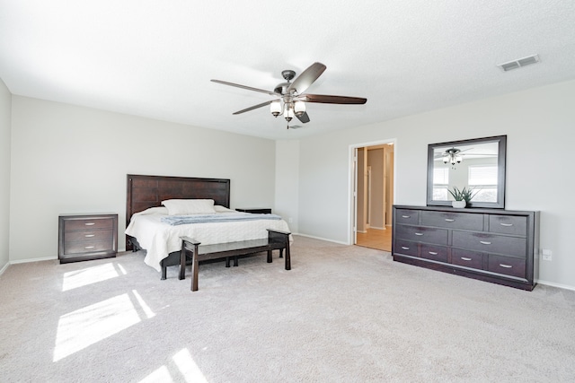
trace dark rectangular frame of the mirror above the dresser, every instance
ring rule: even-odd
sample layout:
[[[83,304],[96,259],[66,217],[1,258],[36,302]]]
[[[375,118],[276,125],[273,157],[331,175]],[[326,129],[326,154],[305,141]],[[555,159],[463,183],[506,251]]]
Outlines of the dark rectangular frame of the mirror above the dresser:
[[[429,144],[428,145],[428,191],[427,191],[427,205],[428,206],[451,206],[450,200],[438,201],[433,200],[433,169],[434,169],[434,150],[442,146],[460,146],[468,144],[486,144],[498,143],[498,158],[497,158],[497,201],[496,202],[470,202],[467,207],[488,207],[495,209],[505,208],[505,157],[507,155],[507,135],[496,135],[492,137],[473,138],[470,140],[451,141],[447,143]]]

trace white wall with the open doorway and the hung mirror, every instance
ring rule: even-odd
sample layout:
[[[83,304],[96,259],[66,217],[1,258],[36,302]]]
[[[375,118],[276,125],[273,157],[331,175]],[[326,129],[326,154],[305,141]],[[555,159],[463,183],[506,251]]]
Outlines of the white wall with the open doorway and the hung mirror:
[[[395,204],[425,205],[428,144],[507,135],[506,208],[541,212],[540,280],[575,287],[573,106],[575,81],[305,138],[299,232],[349,243],[350,145],[395,138]]]

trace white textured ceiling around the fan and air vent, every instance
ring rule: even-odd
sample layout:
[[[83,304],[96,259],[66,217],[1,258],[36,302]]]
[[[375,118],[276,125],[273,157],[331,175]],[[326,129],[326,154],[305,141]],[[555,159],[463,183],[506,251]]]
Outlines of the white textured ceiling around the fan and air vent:
[[[0,0],[0,78],[17,95],[275,139],[299,138],[575,78],[573,0]],[[496,65],[538,54],[504,73]],[[327,65],[286,129],[281,71]],[[302,125],[296,121],[297,125]]]

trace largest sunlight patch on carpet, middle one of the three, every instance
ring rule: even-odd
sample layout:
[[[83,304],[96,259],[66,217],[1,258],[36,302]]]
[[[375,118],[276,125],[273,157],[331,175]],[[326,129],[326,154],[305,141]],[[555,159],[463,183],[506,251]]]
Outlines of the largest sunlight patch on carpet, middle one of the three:
[[[65,314],[58,320],[53,361],[84,350],[139,321],[128,294]]]

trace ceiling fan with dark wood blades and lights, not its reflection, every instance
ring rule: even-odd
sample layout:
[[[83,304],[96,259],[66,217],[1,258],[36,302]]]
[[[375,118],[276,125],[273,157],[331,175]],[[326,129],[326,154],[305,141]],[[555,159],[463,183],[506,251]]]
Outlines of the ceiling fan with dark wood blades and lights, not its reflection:
[[[274,100],[262,102],[261,104],[254,105],[250,108],[238,110],[234,115],[238,115],[253,109],[258,109],[270,105],[271,114],[274,117],[283,115],[289,122],[292,118],[296,117],[302,123],[310,121],[307,112],[305,111],[305,102],[317,102],[322,104],[365,104],[367,99],[360,97],[346,97],[346,96],[329,96],[324,94],[309,94],[305,93],[307,88],[319,78],[325,71],[326,66],[322,63],[314,63],[310,65],[304,72],[296,77],[296,72],[292,70],[285,70],[281,75],[286,80],[286,83],[279,83],[273,91],[265,91],[263,89],[252,88],[251,86],[240,85],[238,83],[228,83],[221,80],[211,80],[214,83],[221,83],[224,85],[235,86],[237,88],[246,89],[248,91],[259,91],[274,96]],[[294,77],[296,79],[294,80]],[[290,83],[292,80],[293,83]]]

